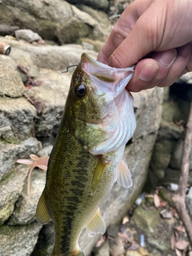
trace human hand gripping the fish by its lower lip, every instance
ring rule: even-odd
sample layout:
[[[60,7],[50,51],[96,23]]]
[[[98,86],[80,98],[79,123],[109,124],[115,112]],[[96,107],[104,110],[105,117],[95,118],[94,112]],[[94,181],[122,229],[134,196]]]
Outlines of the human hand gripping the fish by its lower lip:
[[[192,71],[192,1],[135,0],[118,19],[98,61],[118,68],[137,63],[128,90],[170,86]]]

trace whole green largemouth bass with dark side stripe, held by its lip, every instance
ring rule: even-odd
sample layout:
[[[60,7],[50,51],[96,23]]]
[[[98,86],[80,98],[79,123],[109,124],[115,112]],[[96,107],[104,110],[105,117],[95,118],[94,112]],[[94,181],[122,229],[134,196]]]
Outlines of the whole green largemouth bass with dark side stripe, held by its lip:
[[[136,126],[133,97],[125,89],[133,72],[87,54],[74,71],[36,213],[39,222],[54,222],[52,256],[84,255],[78,246],[83,227],[90,236],[104,234],[99,204],[114,182],[132,184],[123,152]]]

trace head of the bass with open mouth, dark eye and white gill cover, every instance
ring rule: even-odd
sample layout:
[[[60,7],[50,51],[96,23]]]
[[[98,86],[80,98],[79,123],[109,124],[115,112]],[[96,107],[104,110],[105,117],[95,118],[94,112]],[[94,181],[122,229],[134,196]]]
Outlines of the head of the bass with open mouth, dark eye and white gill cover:
[[[91,154],[115,150],[132,136],[133,97],[125,88],[133,73],[134,66],[117,69],[82,54],[71,79],[66,105],[71,113],[69,122],[74,136]],[[116,146],[110,143],[113,137],[116,141],[121,137],[120,143],[112,142]]]

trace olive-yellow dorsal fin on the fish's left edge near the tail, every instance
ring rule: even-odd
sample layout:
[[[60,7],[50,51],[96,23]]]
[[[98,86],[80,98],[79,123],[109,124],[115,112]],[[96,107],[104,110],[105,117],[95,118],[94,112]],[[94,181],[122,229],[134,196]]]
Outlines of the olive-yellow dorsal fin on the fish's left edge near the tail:
[[[45,200],[45,193],[42,192],[41,197],[38,200],[38,206],[36,211],[36,218],[38,222],[42,224],[46,224],[51,221],[50,214],[48,213],[47,207],[46,207],[46,200]]]

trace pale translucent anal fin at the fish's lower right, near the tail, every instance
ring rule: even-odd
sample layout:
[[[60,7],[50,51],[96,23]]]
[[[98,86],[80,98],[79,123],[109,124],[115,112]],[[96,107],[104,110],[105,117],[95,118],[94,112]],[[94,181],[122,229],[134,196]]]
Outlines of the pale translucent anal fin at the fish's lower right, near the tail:
[[[102,218],[99,208],[86,223],[86,232],[90,237],[93,237],[95,234],[104,234],[106,232],[106,223]]]

